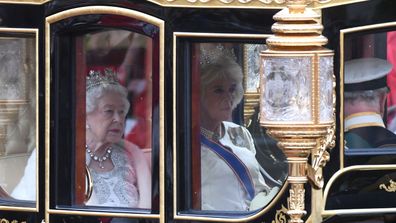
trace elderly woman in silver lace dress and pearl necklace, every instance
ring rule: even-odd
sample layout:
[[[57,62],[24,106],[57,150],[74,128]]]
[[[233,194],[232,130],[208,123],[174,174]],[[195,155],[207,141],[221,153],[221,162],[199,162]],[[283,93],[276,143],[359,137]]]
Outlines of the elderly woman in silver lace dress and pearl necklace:
[[[93,180],[87,205],[151,207],[151,172],[140,149],[123,140],[127,90],[111,70],[86,83],[86,163]]]

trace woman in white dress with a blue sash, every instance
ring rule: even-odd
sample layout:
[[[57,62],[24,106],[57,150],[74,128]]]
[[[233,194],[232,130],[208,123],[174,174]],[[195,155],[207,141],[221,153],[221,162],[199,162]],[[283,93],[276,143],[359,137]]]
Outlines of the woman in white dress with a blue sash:
[[[247,211],[269,202],[271,189],[260,173],[248,130],[231,122],[243,97],[241,67],[228,57],[201,70],[201,208]],[[264,200],[252,206],[260,194]]]

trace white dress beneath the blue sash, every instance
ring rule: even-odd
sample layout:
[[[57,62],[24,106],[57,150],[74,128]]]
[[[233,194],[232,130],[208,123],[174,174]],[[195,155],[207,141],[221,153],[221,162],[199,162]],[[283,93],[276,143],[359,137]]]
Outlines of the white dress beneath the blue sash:
[[[253,180],[255,195],[269,193],[248,130],[232,122],[223,122],[223,126],[225,134],[219,142],[245,164]],[[233,170],[215,152],[201,144],[201,209],[247,211],[250,203],[251,198]]]

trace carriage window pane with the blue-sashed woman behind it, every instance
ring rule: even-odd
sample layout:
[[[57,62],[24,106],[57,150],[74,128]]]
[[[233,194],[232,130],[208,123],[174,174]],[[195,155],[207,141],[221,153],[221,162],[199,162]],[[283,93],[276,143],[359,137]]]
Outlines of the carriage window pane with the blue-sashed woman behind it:
[[[259,210],[287,175],[282,152],[257,119],[265,45],[210,42],[191,49],[192,198],[184,205],[207,213]]]

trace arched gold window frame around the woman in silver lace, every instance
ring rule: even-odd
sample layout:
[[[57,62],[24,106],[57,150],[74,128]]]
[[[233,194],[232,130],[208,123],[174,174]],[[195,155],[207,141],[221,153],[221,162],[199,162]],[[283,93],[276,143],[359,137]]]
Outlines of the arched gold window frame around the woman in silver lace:
[[[158,47],[156,51],[158,52],[158,58],[153,59],[152,66],[156,66],[156,70],[158,71],[158,77],[156,80],[157,84],[154,85],[154,89],[157,91],[158,102],[152,102],[153,105],[158,106],[158,114],[152,115],[152,124],[156,125],[156,131],[153,129],[153,136],[151,138],[152,144],[152,160],[155,163],[152,163],[152,172],[151,176],[153,178],[153,182],[151,185],[151,190],[155,188],[155,184],[158,185],[157,192],[158,194],[152,194],[151,200],[153,201],[154,196],[158,197],[157,203],[152,204],[152,208],[150,209],[123,209],[123,208],[111,208],[111,207],[103,207],[103,208],[90,208],[84,207],[83,209],[70,206],[58,206],[57,202],[54,199],[51,200],[52,197],[56,197],[54,191],[56,191],[55,187],[52,187],[50,184],[51,181],[51,173],[54,173],[52,170],[56,165],[54,165],[53,160],[50,159],[50,153],[54,151],[57,152],[57,149],[51,148],[54,145],[54,139],[51,136],[54,134],[51,132],[51,115],[54,111],[52,108],[53,101],[56,100],[57,95],[51,95],[53,93],[53,84],[51,83],[52,75],[55,75],[51,72],[51,66],[53,63],[51,61],[51,50],[53,47],[52,42],[54,41],[55,36],[51,36],[51,26],[62,21],[67,21],[68,19],[73,19],[78,16],[90,16],[90,15],[114,15],[125,18],[130,18],[137,21],[142,21],[146,24],[150,24],[158,29],[156,35],[156,39],[152,38],[156,42],[156,46]],[[108,27],[107,27],[108,28]],[[110,27],[111,28],[111,27]],[[120,29],[120,26],[114,26],[113,29]],[[69,9],[65,11],[58,12],[56,14],[50,15],[45,19],[45,58],[46,58],[46,80],[45,80],[45,89],[46,89],[46,117],[45,117],[45,129],[46,129],[46,215],[45,221],[49,221],[51,216],[73,216],[73,215],[81,215],[81,216],[98,216],[98,217],[126,217],[126,218],[142,218],[142,219],[159,219],[164,215],[164,176],[160,174],[164,172],[163,168],[163,160],[164,160],[164,32],[165,26],[164,21],[153,17],[151,15],[133,10],[133,9],[125,9],[120,7],[113,6],[88,6],[88,7],[79,7],[74,9]],[[133,30],[133,29],[128,29]],[[154,57],[153,57],[154,58]],[[156,64],[154,64],[156,63]],[[73,68],[72,68],[73,69]],[[72,77],[73,78],[73,77]],[[55,91],[56,92],[56,91]],[[154,109],[154,106],[152,106]],[[73,119],[74,120],[74,119]],[[74,131],[74,130],[73,130]],[[157,133],[158,131],[158,133]],[[156,135],[156,136],[154,136]],[[55,139],[56,140],[56,139]],[[74,139],[75,140],[75,139]],[[155,168],[155,169],[154,169]],[[155,192],[155,191],[154,191]],[[53,202],[53,203],[50,203]]]

